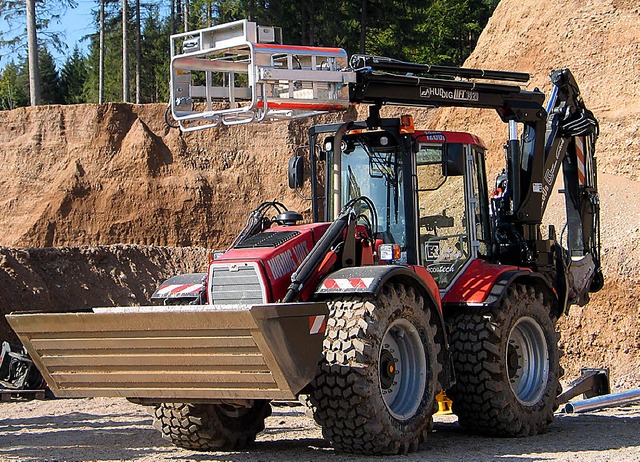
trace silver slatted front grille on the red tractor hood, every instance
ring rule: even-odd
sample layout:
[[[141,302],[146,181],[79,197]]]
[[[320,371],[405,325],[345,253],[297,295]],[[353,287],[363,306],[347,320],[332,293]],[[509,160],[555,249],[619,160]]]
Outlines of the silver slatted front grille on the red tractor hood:
[[[212,265],[209,277],[212,305],[259,305],[266,302],[255,263]]]

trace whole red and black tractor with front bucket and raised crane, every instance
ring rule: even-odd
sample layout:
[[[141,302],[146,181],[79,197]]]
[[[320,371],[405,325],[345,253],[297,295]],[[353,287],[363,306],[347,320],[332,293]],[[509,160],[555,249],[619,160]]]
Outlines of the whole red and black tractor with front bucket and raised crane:
[[[289,184],[309,194],[310,220],[261,204],[207,273],[166,281],[153,296],[162,303],[8,316],[54,393],[153,405],[163,436],[202,450],[252,442],[270,400],[300,395],[347,452],[417,450],[443,391],[472,432],[544,431],[562,390],[556,322],[603,284],[598,125],[571,72],[551,74],[543,105],[543,93],[512,83],[528,80],[519,72],[371,56],[346,70],[326,56],[305,67],[305,53],[339,51],[248,39],[211,57],[210,37],[194,40],[174,56],[175,76],[238,72],[245,50],[271,53],[251,59],[252,89],[291,79],[276,103],[260,87],[250,115],[208,107],[206,127],[313,111],[316,100],[315,109],[335,109],[316,94],[335,83],[350,104],[368,104],[369,117],[312,126],[308,157],[291,159]],[[177,97],[176,87],[186,90],[175,80],[174,116],[192,123],[189,98],[217,93]],[[503,173],[489,181],[478,137],[380,117],[389,104],[496,110],[508,127]],[[561,166],[567,224],[558,236],[542,217]]]

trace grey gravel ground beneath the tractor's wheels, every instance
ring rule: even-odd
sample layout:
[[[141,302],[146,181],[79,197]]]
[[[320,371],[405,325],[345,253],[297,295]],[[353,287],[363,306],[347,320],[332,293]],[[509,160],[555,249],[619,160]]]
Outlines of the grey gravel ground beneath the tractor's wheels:
[[[146,410],[122,399],[0,403],[0,460],[359,461],[336,453],[304,408],[275,407],[250,450],[178,449],[151,427]],[[640,406],[558,414],[544,435],[502,439],[465,434],[453,415],[437,415],[425,447],[385,461],[640,461]]]

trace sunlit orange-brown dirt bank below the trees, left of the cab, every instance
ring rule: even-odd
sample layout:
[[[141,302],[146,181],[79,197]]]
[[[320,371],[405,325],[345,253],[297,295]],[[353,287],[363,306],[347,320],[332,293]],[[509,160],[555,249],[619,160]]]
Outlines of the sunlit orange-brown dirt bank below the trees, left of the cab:
[[[292,122],[181,134],[162,105],[0,111],[0,245],[228,243],[286,185],[305,142]],[[334,116],[342,117],[342,115]]]

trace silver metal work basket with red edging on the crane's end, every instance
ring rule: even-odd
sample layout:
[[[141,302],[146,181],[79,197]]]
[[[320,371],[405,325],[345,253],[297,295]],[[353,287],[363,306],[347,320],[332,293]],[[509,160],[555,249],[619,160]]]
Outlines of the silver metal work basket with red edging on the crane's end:
[[[347,109],[347,53],[281,45],[280,36],[247,20],[172,35],[170,108],[181,130]]]

